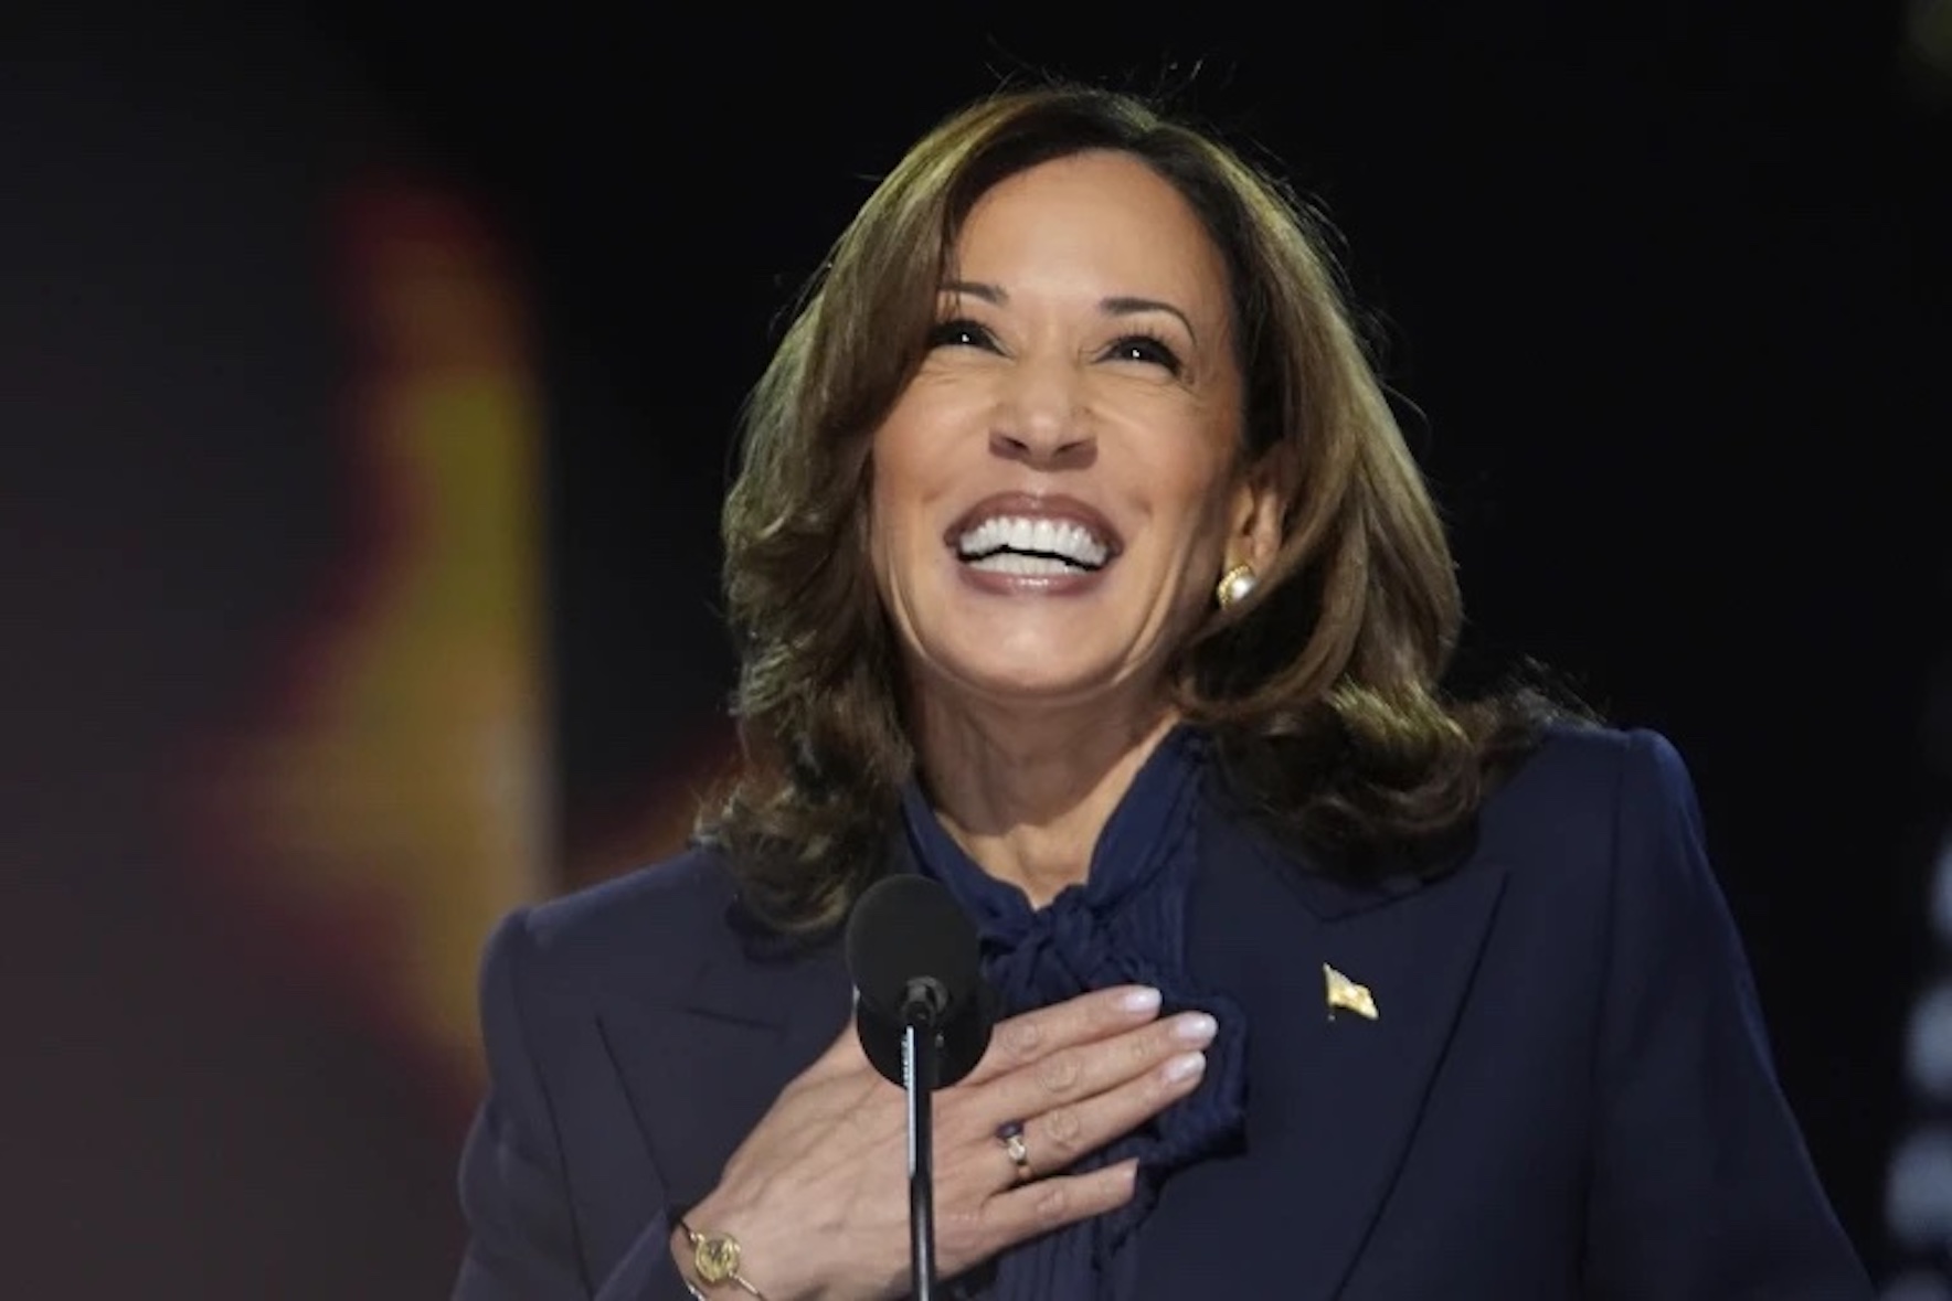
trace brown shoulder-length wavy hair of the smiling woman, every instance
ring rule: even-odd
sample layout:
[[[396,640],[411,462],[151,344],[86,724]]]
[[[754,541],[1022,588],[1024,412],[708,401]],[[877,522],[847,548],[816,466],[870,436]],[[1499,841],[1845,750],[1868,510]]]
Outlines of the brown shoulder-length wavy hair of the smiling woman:
[[[1439,513],[1368,365],[1323,226],[1220,138],[1120,92],[1038,86],[949,117],[808,285],[742,417],[724,505],[742,767],[699,823],[746,905],[789,932],[874,880],[914,769],[902,665],[867,560],[876,425],[915,373],[976,199],[1040,162],[1120,150],[1171,181],[1226,259],[1241,464],[1282,544],[1177,648],[1169,690],[1247,815],[1349,874],[1443,862],[1554,714],[1532,690],[1443,698],[1462,609]]]

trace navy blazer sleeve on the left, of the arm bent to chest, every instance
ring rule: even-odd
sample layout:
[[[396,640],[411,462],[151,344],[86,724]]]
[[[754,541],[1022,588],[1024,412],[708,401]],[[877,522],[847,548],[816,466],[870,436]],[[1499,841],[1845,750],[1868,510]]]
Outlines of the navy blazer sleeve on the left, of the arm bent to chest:
[[[623,1260],[591,1278],[549,1086],[531,1049],[535,944],[527,913],[490,936],[480,977],[488,1094],[461,1155],[468,1241],[455,1301],[687,1301],[671,1260],[671,1221],[656,1213]]]

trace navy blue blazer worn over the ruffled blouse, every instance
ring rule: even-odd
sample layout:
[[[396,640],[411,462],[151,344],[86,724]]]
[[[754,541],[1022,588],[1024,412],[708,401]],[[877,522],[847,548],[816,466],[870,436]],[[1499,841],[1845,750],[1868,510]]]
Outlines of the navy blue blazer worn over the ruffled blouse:
[[[1554,735],[1419,887],[1202,837],[1189,962],[1247,1016],[1245,1141],[1165,1182],[1148,1301],[1868,1301],[1659,735]],[[496,930],[455,1297],[687,1295],[673,1207],[851,1003],[832,950],[748,956],[730,901],[695,850]]]

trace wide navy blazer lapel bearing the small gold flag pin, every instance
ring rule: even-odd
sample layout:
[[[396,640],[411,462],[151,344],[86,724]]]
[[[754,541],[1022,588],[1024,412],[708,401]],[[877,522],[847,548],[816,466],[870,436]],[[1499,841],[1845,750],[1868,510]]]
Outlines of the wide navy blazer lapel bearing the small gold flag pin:
[[[1282,1295],[1339,1293],[1409,1151],[1505,886],[1501,866],[1472,860],[1429,886],[1364,893],[1251,856],[1208,878],[1193,934],[1202,979],[1245,1003],[1245,1151],[1165,1184],[1140,1252],[1146,1297],[1212,1287],[1214,1262],[1226,1278],[1281,1280]],[[1341,1006],[1325,969],[1347,981]]]

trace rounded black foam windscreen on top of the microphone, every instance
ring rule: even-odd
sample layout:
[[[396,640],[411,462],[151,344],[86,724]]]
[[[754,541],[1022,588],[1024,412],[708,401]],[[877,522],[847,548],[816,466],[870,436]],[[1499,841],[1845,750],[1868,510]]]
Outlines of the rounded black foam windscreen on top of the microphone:
[[[953,1018],[980,987],[976,926],[945,886],[925,876],[886,876],[861,895],[847,919],[847,971],[861,1001],[900,1018],[908,987],[935,981]]]

